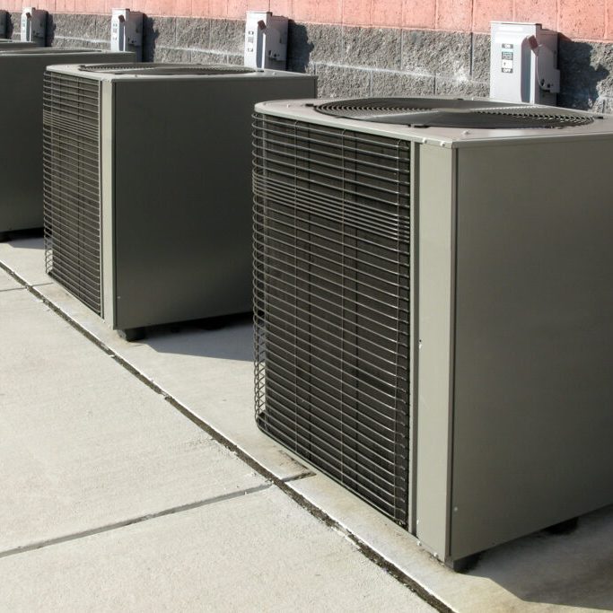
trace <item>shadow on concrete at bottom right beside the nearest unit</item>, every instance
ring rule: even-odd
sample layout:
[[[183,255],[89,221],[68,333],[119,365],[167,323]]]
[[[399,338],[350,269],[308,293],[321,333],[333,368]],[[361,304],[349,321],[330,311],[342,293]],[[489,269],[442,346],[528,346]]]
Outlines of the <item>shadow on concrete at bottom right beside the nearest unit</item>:
[[[527,602],[613,610],[613,506],[583,515],[576,530],[542,530],[490,549],[468,574]]]

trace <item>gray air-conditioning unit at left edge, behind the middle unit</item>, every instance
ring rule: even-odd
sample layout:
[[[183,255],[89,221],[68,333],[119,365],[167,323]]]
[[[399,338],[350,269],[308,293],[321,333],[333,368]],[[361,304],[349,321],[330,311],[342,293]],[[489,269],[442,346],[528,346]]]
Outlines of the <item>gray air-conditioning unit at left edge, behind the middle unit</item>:
[[[0,152],[0,241],[9,232],[42,228],[42,80],[58,62],[131,61],[131,53],[96,49],[23,48],[4,52],[0,45],[0,117],[4,139]]]

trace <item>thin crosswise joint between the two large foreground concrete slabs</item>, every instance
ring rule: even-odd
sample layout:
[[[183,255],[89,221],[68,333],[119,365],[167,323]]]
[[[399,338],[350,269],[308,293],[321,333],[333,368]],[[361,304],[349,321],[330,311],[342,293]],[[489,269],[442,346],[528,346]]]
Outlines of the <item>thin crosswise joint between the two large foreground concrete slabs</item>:
[[[82,530],[80,532],[74,532],[73,534],[66,534],[62,537],[56,537],[55,539],[40,540],[36,543],[31,543],[30,545],[23,545],[22,547],[14,547],[13,549],[6,549],[5,551],[0,551],[0,558],[8,556],[17,556],[18,554],[35,551],[36,549],[43,549],[45,547],[61,545],[62,543],[67,543],[71,540],[85,539],[87,537],[92,537],[95,534],[102,534],[104,532],[110,532],[112,530],[127,528],[127,526],[133,526],[136,523],[156,520],[160,517],[166,517],[167,515],[175,515],[180,512],[200,509],[204,506],[209,506],[210,504],[224,503],[228,500],[233,500],[234,498],[240,498],[241,496],[257,494],[258,492],[262,492],[270,487],[272,487],[271,483],[267,483],[262,486],[249,487],[248,489],[242,489],[239,492],[232,492],[231,494],[222,494],[214,496],[213,498],[198,500],[195,503],[180,504],[178,506],[173,506],[170,509],[163,509],[162,511],[148,513],[147,515],[140,515],[138,517],[133,517],[129,520],[116,521],[114,523],[109,523],[105,526],[99,526],[98,528],[92,528],[90,530]]]

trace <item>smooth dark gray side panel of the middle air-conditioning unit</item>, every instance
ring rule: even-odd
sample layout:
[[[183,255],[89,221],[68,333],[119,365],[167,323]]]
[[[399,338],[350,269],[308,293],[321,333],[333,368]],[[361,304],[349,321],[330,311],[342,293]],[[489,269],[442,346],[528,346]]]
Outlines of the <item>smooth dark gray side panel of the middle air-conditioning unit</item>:
[[[116,84],[116,328],[251,309],[251,114],[311,79]]]

